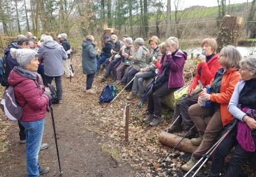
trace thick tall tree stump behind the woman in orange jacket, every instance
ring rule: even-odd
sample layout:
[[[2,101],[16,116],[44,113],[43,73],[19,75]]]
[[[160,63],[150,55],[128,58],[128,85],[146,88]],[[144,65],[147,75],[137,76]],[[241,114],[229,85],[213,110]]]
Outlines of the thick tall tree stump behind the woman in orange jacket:
[[[238,39],[242,32],[244,18],[240,16],[224,16],[217,36],[217,53],[223,46],[238,46]]]

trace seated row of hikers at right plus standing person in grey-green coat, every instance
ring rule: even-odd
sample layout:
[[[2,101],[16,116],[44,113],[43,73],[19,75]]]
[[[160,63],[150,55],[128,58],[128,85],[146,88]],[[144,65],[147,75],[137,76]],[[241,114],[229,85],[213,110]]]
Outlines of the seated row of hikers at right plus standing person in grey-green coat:
[[[94,36],[86,37],[82,45],[83,72],[87,74],[85,91],[96,93],[92,83],[104,63],[104,75],[99,76],[100,80],[105,82],[112,76],[115,84],[131,90],[128,100],[143,99],[146,95],[147,110],[142,121],[157,126],[164,121],[161,99],[184,86],[183,69],[187,54],[179,49],[177,37],[169,37],[162,43],[158,37],[150,37],[151,51],[141,37],[134,42],[127,35],[122,37],[121,41],[117,35],[104,35],[105,44],[99,59],[94,49]],[[239,176],[243,165],[255,152],[256,57],[242,59],[234,46],[225,46],[216,54],[214,38],[203,39],[201,48],[203,52],[197,58],[195,78],[188,86],[186,97],[175,103],[172,126],[167,131],[192,138],[191,143],[198,146],[190,160],[182,165],[182,170],[188,172],[223,132],[236,123],[216,148],[208,176],[221,174],[225,157],[233,147],[235,150],[225,176]],[[150,78],[152,82],[145,88],[143,82]],[[196,91],[199,84],[203,89]]]

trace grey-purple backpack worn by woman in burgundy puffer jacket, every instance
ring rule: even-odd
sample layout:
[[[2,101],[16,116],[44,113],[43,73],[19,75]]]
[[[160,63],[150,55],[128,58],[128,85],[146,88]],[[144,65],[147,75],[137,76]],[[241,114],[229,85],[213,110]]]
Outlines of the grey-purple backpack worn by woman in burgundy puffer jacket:
[[[8,86],[3,93],[0,106],[10,120],[20,120],[23,116],[23,108],[16,102],[13,86]]]

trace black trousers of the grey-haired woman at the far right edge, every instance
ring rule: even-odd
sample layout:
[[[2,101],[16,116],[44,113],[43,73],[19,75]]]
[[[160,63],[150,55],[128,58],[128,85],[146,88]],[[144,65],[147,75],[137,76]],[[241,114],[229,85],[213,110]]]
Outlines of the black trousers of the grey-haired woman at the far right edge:
[[[252,131],[252,136],[254,142],[256,142],[255,130]],[[236,140],[236,129],[234,129],[233,131],[231,131],[229,135],[227,135],[227,137],[216,149],[208,176],[219,176],[221,170],[223,169],[225,157],[229,154],[233,146],[235,146],[235,152],[233,152],[233,156],[229,161],[229,166],[227,167],[227,171],[224,176],[236,177],[242,173],[241,171],[243,165],[246,163],[249,157],[251,157],[255,152],[247,152],[240,146],[240,144],[238,144]]]

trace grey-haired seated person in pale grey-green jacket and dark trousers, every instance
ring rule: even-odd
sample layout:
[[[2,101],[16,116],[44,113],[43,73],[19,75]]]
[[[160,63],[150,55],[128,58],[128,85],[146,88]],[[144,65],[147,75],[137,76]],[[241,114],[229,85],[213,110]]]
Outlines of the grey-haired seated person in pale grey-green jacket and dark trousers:
[[[128,84],[132,78],[134,78],[137,72],[141,71],[141,69],[147,67],[146,63],[146,55],[149,50],[144,46],[144,40],[141,37],[138,37],[134,41],[135,52],[132,55],[132,65],[130,65],[124,74],[124,77],[121,80],[121,83],[126,85]],[[132,84],[129,84],[126,88],[131,88]]]

